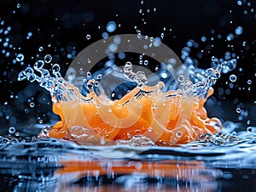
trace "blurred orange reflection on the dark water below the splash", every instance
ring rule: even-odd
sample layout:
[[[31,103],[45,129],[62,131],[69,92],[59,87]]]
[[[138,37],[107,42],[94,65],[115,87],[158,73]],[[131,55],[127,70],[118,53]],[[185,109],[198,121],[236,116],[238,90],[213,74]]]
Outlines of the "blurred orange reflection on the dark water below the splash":
[[[216,191],[222,172],[203,161],[64,161],[58,191]],[[67,178],[69,181],[67,182]],[[62,180],[62,181],[61,181]]]

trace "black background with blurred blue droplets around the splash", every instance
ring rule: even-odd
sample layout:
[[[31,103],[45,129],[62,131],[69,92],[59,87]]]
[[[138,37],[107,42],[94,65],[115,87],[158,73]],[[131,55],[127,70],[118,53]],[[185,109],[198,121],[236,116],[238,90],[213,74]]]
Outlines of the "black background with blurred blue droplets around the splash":
[[[17,3],[20,3],[20,8],[17,8]],[[136,33],[135,25],[143,35],[150,37],[160,37],[164,32],[163,42],[178,56],[187,41],[194,39],[200,46],[193,48],[191,56],[198,59],[199,66],[204,69],[211,66],[212,55],[221,58],[227,51],[236,53],[240,57],[236,70],[222,75],[218,80],[214,86],[215,93],[207,103],[207,109],[209,116],[218,116],[222,121],[240,121],[243,127],[255,126],[256,2],[242,3],[239,6],[234,0],[154,0],[144,1],[142,5],[138,0],[1,0],[0,17],[5,24],[0,25],[0,29],[11,26],[12,30],[7,36],[0,34],[0,38],[9,37],[16,49],[4,48],[3,42],[0,42],[1,50],[10,52],[9,57],[0,52],[0,127],[19,127],[22,123],[33,124],[40,120],[47,123],[50,119],[56,119],[51,113],[49,93],[39,88],[37,83],[18,82],[18,73],[24,70],[26,65],[32,65],[37,59],[42,59],[45,54],[51,54],[54,62],[61,65],[61,73],[64,76],[68,64],[73,60],[67,59],[67,54],[73,50],[79,54],[90,43],[101,39],[102,32],[106,31],[106,24],[110,20],[120,24],[111,35]],[[251,5],[248,6],[247,3]],[[145,15],[139,13],[140,8],[143,8]],[[146,12],[148,8],[149,14]],[[156,12],[153,11],[154,8]],[[247,11],[247,14],[244,11]],[[142,19],[147,25],[143,24]],[[101,29],[98,29],[99,25]],[[235,34],[239,25],[243,27],[241,36],[235,37],[231,42],[225,41],[228,34]],[[164,27],[166,31],[163,31]],[[212,30],[215,31],[214,34]],[[29,31],[32,31],[33,35],[26,39]],[[90,40],[86,39],[87,34],[91,35]],[[222,36],[220,39],[217,38],[218,34]],[[202,36],[207,37],[207,42],[201,42]],[[211,37],[214,37],[214,41],[211,41]],[[242,42],[246,42],[247,46],[243,46]],[[207,49],[211,45],[214,47]],[[229,45],[233,45],[233,48]],[[38,48],[41,46],[44,50],[40,52]],[[20,50],[17,50],[18,48]],[[204,54],[199,59],[197,54],[201,50],[204,50]],[[13,64],[17,53],[25,55],[24,65]],[[50,66],[47,67],[50,69]],[[229,88],[231,74],[237,76],[234,88]],[[248,85],[248,80],[253,83]],[[226,89],[230,89],[230,94],[222,93]],[[16,95],[19,97],[15,98]],[[32,99],[34,107],[30,106],[29,99]],[[237,107],[247,111],[248,115],[239,119],[241,113],[236,112]],[[6,116],[9,118],[6,119]]]

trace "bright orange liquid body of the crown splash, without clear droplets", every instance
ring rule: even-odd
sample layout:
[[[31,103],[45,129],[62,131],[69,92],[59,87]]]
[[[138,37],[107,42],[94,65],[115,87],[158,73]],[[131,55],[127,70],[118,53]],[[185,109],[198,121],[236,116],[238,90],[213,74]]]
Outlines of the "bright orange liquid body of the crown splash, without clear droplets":
[[[49,130],[49,137],[66,138],[71,127],[79,126],[90,129],[96,140],[129,140],[135,135],[143,135],[155,144],[187,144],[201,134],[221,131],[221,121],[208,118],[204,108],[213,93],[212,88],[206,98],[191,100],[188,96],[181,97],[177,90],[161,92],[163,84],[143,85],[143,91],[134,88],[119,100],[97,96],[93,91],[84,97],[73,88],[79,99],[53,104],[53,111],[61,121]],[[81,137],[83,132],[74,134]]]

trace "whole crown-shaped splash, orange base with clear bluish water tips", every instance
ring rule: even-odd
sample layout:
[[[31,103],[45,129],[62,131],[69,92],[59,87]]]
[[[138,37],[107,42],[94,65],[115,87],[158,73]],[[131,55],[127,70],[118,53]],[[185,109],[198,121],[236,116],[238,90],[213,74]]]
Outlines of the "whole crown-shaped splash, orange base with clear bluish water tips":
[[[163,92],[164,82],[159,82],[154,87],[147,86],[148,77],[145,73],[132,71],[131,62],[127,62],[123,76],[130,82],[136,82],[137,86],[121,99],[112,100],[101,88],[102,74],[94,77],[89,71],[87,72],[84,79],[84,95],[82,95],[78,88],[61,77],[60,65],[52,65],[52,76],[44,69],[44,64],[50,62],[49,58],[50,56],[46,55],[45,60],[38,60],[33,66],[40,76],[32,67],[27,67],[25,71],[20,72],[18,80],[37,81],[51,94],[54,112],[61,116],[61,121],[57,122],[46,135],[57,138],[72,137],[80,144],[90,143],[92,135],[94,144],[101,144],[102,139],[134,140],[134,137],[142,135],[151,139],[154,144],[168,145],[195,141],[203,133],[220,132],[221,122],[216,118],[207,118],[203,104],[212,94],[211,86],[220,77],[220,73],[226,73],[236,67],[236,59],[224,60],[215,57],[212,57],[212,68],[205,71],[195,68],[193,64],[186,64],[185,67],[190,69],[190,80],[180,75],[177,78],[179,88],[170,89],[171,86]],[[189,54],[186,54],[185,59],[188,58]],[[166,68],[168,69],[167,65]],[[166,68],[158,70],[161,76],[161,71]],[[100,88],[100,91],[96,92],[96,88]],[[184,110],[188,111],[188,107],[192,111],[190,118],[188,121],[180,121],[180,116],[185,116]],[[73,114],[74,111],[76,115]],[[162,115],[164,111],[166,116]],[[73,133],[72,127],[78,126],[80,128],[75,129]],[[90,134],[87,133],[88,128]],[[89,135],[89,138],[81,139],[80,135],[84,134]]]

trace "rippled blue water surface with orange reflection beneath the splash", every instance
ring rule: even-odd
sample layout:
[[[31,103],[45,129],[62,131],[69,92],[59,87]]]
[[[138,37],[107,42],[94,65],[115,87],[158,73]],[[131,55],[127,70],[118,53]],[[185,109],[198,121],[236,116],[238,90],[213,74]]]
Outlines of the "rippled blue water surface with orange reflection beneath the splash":
[[[0,184],[3,191],[253,191],[256,137],[238,135],[225,144],[172,147],[2,137]]]

